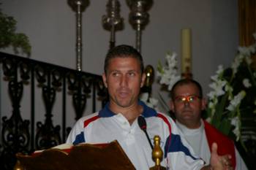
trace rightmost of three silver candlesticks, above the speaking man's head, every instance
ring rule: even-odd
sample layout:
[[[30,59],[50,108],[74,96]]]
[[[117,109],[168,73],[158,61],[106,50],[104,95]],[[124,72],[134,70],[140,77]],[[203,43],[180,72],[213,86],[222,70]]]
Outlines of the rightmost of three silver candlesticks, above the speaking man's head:
[[[153,4],[153,0],[127,0],[127,4],[131,9],[129,13],[129,22],[136,31],[136,49],[140,52],[141,31],[148,23],[148,10]]]

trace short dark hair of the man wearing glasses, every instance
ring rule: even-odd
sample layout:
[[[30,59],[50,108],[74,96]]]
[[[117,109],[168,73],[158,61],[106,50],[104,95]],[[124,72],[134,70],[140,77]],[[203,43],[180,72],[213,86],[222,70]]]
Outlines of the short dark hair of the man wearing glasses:
[[[173,85],[173,88],[172,90],[170,90],[170,96],[172,99],[174,99],[176,96],[175,96],[175,90],[178,86],[181,86],[181,85],[189,85],[189,84],[193,84],[197,87],[198,91],[199,91],[199,96],[200,97],[203,97],[203,89],[202,89],[202,86],[200,85],[199,82],[195,81],[195,80],[192,80],[192,79],[181,79],[181,80],[178,80],[178,82],[176,82],[174,85]]]

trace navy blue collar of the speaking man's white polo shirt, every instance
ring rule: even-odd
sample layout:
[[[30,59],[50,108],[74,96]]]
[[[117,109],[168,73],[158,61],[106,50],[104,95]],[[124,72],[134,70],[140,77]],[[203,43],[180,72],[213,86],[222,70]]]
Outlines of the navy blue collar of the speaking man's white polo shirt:
[[[152,109],[151,107],[148,107],[143,101],[138,101],[138,104],[143,107],[143,117],[152,117],[157,115],[157,111],[155,109]],[[112,117],[116,115],[114,112],[112,112],[109,108],[110,103],[108,102],[105,104],[105,107],[99,111],[99,117]]]

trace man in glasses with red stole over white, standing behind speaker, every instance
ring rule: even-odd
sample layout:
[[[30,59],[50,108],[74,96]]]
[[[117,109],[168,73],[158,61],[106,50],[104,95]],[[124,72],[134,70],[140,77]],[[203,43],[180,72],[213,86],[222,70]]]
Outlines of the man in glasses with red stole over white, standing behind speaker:
[[[201,85],[195,80],[179,80],[171,90],[170,109],[176,117],[176,125],[192,146],[195,154],[209,163],[211,145],[218,144],[219,155],[231,155],[233,169],[246,170],[233,141],[228,139],[212,125],[201,118],[201,112],[206,109],[206,99],[203,98]]]

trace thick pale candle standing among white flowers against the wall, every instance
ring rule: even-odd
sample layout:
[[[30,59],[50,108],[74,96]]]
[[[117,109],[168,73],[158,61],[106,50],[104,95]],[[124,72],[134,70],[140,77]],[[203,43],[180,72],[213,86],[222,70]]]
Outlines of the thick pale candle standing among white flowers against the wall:
[[[181,73],[191,73],[191,29],[181,30]]]

